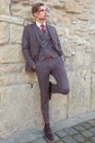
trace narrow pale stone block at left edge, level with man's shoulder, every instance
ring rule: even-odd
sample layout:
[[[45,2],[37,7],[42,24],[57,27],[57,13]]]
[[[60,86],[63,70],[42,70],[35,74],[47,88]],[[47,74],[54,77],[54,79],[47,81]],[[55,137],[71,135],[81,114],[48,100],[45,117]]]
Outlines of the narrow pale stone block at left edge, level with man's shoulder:
[[[0,44],[8,43],[9,41],[9,24],[0,22]]]

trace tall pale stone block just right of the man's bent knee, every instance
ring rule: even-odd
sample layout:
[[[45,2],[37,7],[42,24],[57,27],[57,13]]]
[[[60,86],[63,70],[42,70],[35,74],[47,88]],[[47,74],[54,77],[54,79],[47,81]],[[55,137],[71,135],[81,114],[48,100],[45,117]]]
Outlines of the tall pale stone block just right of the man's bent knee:
[[[71,92],[69,96],[69,117],[90,111],[91,106],[91,70],[69,73]]]

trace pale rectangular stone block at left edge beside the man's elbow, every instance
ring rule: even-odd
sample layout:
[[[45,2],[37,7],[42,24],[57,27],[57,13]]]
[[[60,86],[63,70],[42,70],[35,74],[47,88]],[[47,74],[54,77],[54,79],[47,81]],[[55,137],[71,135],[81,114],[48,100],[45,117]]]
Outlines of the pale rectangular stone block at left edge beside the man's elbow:
[[[0,47],[0,63],[24,62],[21,45],[4,45]]]

